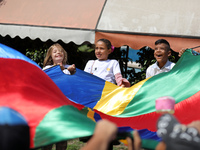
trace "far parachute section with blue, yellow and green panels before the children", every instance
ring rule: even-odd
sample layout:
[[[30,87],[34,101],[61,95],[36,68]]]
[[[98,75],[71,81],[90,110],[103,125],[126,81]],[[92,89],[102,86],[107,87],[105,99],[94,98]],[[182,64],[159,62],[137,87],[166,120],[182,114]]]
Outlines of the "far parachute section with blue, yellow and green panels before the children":
[[[174,115],[181,123],[200,119],[196,107],[200,103],[199,64],[200,56],[193,56],[188,50],[170,72],[145,79],[130,88],[118,87],[82,70],[72,76],[65,75],[59,66],[45,72],[66,97],[90,108],[87,110],[89,118],[96,121],[107,118],[118,127],[138,129],[143,145],[155,148],[160,140],[155,133],[160,116],[155,110],[157,98],[175,98]]]

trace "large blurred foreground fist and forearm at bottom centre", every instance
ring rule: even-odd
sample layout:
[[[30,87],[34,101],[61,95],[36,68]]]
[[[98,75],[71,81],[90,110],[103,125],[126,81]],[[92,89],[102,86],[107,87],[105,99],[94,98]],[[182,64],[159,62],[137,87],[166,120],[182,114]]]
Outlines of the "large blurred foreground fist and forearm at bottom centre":
[[[117,126],[114,123],[100,120],[96,124],[94,135],[81,150],[106,150],[116,134]]]

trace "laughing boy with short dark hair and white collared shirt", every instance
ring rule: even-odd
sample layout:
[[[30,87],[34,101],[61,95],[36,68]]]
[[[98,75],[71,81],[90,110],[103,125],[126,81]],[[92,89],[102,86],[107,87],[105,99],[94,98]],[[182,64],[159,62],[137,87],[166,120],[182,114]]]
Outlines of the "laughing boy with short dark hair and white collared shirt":
[[[149,66],[146,71],[146,78],[152,77],[162,72],[170,71],[175,63],[170,62],[168,57],[171,56],[170,44],[165,39],[159,39],[155,42],[154,57],[156,62]]]

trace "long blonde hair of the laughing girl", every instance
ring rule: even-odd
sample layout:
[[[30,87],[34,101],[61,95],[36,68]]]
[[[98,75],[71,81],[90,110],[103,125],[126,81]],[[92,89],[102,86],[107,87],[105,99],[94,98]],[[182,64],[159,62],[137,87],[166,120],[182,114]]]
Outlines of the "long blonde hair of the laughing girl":
[[[44,58],[44,62],[43,62],[43,67],[47,65],[53,65],[53,59],[51,57],[51,54],[54,48],[57,48],[58,50],[64,53],[64,59],[62,61],[62,64],[63,65],[67,64],[67,52],[60,44],[55,43],[51,47],[49,47],[49,49],[47,50],[46,57]]]

